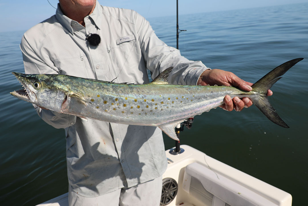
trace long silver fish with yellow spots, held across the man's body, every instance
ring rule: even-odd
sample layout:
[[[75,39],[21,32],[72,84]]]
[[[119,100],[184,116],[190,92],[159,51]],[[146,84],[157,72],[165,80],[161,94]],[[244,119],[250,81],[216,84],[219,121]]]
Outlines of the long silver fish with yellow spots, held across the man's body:
[[[302,59],[293,59],[276,67],[254,83],[252,91],[226,86],[170,84],[168,77],[172,67],[169,67],[147,84],[12,72],[23,89],[10,94],[39,107],[82,119],[156,126],[175,140],[179,140],[175,127],[185,119],[222,105],[226,95],[248,97],[268,119],[289,128],[270,104],[267,91]]]

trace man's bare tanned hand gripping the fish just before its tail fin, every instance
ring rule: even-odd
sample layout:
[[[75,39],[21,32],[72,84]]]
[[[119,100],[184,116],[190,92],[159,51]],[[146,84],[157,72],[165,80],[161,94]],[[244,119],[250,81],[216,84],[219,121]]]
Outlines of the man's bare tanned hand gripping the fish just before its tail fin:
[[[251,86],[253,85],[253,83],[245,82],[244,80],[240,79],[232,72],[220,69],[205,70],[200,75],[200,78],[197,83],[197,85],[202,86],[213,86],[215,84],[217,84],[218,86],[233,86],[244,91],[251,91]],[[268,90],[267,95],[271,96],[273,95],[273,92],[271,90]],[[235,109],[235,111],[241,111],[244,107],[250,107],[253,104],[248,97],[244,97],[243,99],[234,97],[233,99],[231,99],[229,95],[225,96],[224,103],[225,104],[219,107],[227,111],[232,111],[233,109]]]

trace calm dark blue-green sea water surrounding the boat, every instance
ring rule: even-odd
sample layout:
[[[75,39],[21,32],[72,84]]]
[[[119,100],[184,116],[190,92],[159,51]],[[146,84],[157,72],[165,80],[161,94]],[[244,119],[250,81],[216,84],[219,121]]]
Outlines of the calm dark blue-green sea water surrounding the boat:
[[[156,34],[176,46],[175,16],[148,19]],[[306,205],[308,192],[308,3],[179,16],[181,54],[207,67],[256,82],[278,65],[305,58],[272,87],[270,102],[290,126],[270,122],[256,107],[221,108],[198,115],[181,144],[293,196]],[[63,129],[44,123],[30,103],[9,94],[23,72],[19,43],[25,31],[0,33],[0,204],[35,205],[68,190]],[[165,148],[174,140],[164,135]]]

